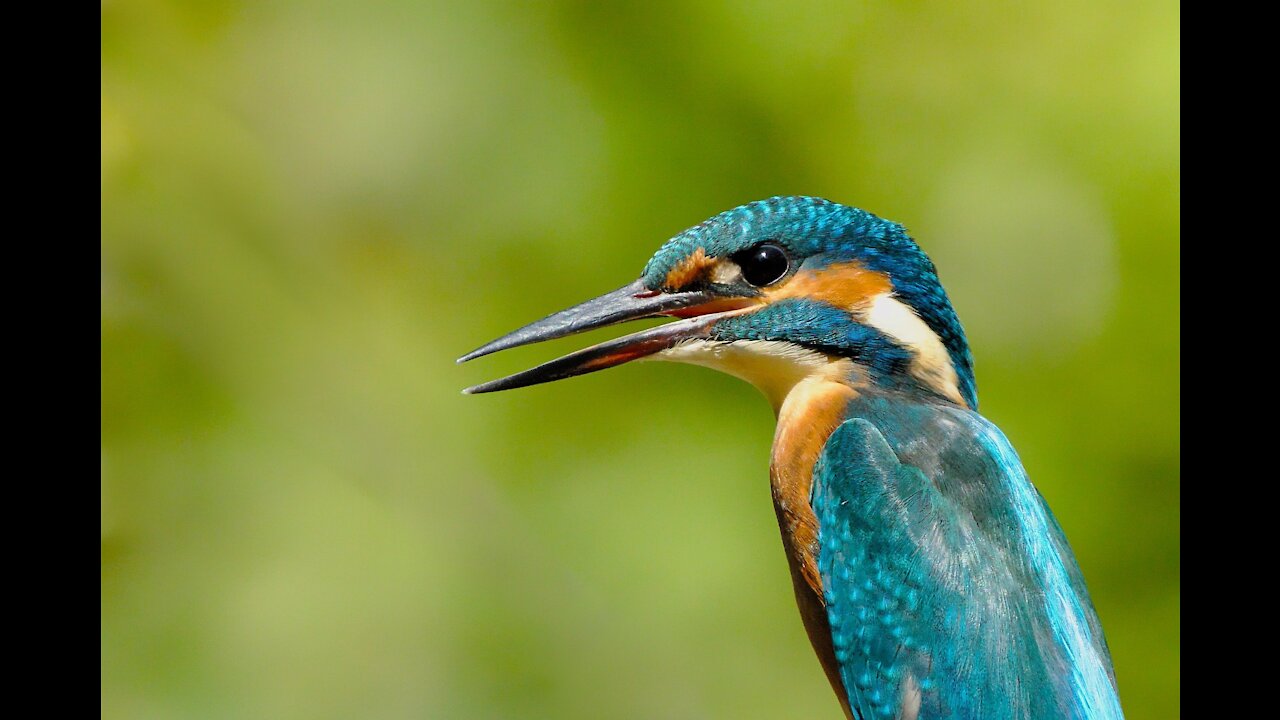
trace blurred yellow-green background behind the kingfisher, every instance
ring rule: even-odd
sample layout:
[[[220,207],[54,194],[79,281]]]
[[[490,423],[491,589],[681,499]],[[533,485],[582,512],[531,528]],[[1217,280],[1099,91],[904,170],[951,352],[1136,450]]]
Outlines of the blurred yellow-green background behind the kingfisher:
[[[1179,715],[1176,3],[101,13],[104,717],[838,717],[754,389],[453,364],[776,193],[934,256]]]

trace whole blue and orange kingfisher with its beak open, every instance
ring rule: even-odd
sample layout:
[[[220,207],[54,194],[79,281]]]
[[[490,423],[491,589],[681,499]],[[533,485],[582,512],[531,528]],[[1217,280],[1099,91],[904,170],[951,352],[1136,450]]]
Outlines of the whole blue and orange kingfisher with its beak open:
[[[846,717],[1123,717],[1075,556],[978,414],[964,329],[901,224],[818,197],[741,205],[672,237],[637,281],[458,361],[655,316],[675,320],[463,392],[632,360],[745,379],[777,416],[782,546]]]

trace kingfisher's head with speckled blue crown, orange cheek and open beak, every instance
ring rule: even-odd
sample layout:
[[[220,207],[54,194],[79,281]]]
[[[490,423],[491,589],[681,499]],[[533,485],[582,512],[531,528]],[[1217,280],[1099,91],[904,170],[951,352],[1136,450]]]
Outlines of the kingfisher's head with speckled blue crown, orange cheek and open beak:
[[[458,361],[653,316],[678,319],[466,392],[648,357],[741,377],[774,407],[797,380],[840,373],[977,409],[969,345],[929,258],[902,225],[818,197],[771,197],[721,213],[667,241],[640,279]]]

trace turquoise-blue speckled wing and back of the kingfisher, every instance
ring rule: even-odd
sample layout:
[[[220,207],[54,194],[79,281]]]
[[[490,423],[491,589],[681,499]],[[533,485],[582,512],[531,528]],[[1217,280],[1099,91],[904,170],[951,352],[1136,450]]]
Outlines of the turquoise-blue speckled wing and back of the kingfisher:
[[[850,410],[812,501],[855,717],[1123,717],[1083,577],[1004,434],[950,406]]]

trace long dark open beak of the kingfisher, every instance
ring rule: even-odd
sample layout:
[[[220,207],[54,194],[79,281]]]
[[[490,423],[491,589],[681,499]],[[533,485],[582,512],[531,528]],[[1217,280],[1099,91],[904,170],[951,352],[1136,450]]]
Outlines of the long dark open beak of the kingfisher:
[[[613,368],[675,347],[687,340],[707,338],[717,320],[740,313],[751,304],[750,299],[726,299],[705,291],[658,292],[636,281],[507,333],[458,357],[458,363],[627,320],[659,315],[677,315],[686,319],[602,342],[530,370],[468,387],[462,392],[474,395],[512,389]]]

